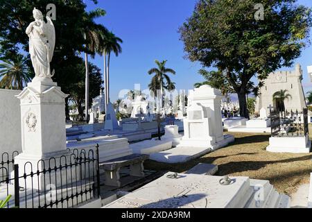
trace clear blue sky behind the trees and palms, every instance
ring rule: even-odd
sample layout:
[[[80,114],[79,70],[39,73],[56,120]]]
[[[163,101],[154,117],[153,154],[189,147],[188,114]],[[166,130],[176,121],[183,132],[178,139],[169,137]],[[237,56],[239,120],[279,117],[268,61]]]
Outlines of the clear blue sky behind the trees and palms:
[[[151,76],[147,71],[155,67],[154,60],[168,60],[167,67],[175,69],[172,76],[177,89],[193,89],[193,84],[203,78],[198,74],[199,62],[183,58],[183,43],[178,28],[190,17],[197,0],[99,0],[94,5],[87,2],[87,10],[96,7],[106,10],[107,15],[96,22],[103,24],[123,40],[122,53],[112,56],[110,67],[110,98],[117,99],[121,89],[134,89],[140,84],[146,89]],[[312,7],[311,0],[297,3]],[[311,31],[312,37],[312,31]],[[103,57],[92,60],[103,69]],[[312,65],[311,46],[304,49],[295,60],[302,65],[304,91],[312,90],[306,66]],[[281,70],[291,70],[284,67]]]

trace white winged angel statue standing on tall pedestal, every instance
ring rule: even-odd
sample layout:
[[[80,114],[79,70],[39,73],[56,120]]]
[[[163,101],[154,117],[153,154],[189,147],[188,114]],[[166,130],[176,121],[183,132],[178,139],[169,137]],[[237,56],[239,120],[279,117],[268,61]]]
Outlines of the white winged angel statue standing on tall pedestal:
[[[55,46],[54,25],[49,16],[46,16],[47,22],[44,22],[42,12],[36,8],[33,9],[33,17],[35,22],[28,25],[26,34],[29,37],[29,53],[35,77],[51,78],[54,75],[54,70],[51,72],[50,69]]]

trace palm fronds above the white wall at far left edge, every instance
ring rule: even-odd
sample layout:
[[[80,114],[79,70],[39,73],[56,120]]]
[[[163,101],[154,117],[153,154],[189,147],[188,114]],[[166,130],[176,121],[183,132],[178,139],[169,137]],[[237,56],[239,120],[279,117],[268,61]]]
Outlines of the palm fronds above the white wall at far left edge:
[[[19,55],[13,60],[2,60],[0,64],[0,87],[5,89],[23,89],[31,81],[27,60]]]

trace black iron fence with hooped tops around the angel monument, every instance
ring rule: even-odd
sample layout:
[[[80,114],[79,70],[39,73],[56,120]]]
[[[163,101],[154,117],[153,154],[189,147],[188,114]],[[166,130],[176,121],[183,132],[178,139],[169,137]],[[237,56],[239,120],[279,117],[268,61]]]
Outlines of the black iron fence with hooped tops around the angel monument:
[[[3,154],[0,165],[0,194],[12,195],[8,208],[76,207],[101,196],[98,146],[22,165],[15,164],[17,154]]]

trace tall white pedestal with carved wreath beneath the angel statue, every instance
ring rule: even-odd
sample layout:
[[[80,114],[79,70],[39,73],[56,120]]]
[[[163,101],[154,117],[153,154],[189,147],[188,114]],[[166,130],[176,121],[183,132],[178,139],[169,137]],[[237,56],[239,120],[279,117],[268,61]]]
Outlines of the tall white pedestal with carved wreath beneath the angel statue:
[[[42,80],[42,81],[40,81]],[[15,164],[19,164],[19,175],[27,175],[64,165],[69,160],[66,149],[65,102],[67,97],[57,83],[51,78],[34,78],[32,83],[17,95],[21,101],[21,146],[22,153],[15,157]],[[62,159],[57,157],[64,156]],[[55,159],[50,161],[51,157]],[[66,160],[67,158],[67,160]],[[21,179],[20,186],[43,189],[49,181],[34,176],[29,180]],[[65,173],[64,173],[65,175]],[[53,184],[57,187],[62,173],[55,172]],[[55,181],[55,178],[58,181]],[[33,181],[32,181],[33,180]],[[26,184],[24,184],[26,183]]]

